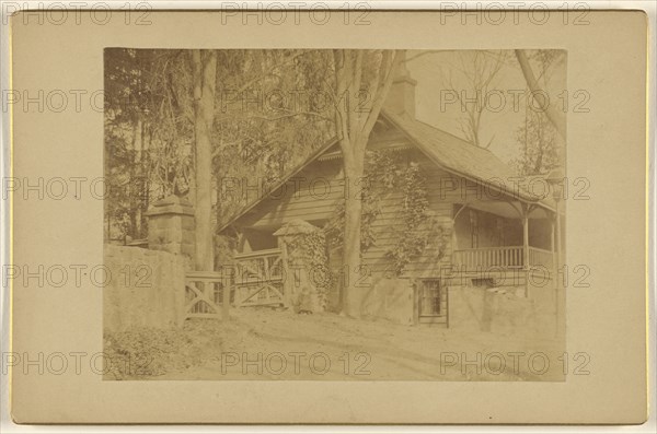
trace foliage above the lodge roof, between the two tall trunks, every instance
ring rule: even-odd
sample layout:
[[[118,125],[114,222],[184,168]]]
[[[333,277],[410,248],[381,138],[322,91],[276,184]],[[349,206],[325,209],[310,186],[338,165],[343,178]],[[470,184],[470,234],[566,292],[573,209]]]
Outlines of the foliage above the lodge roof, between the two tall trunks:
[[[226,222],[334,134],[321,103],[330,73],[322,50],[243,50],[240,73],[222,75],[215,173]],[[260,192],[247,191],[258,186]],[[235,188],[235,186],[238,186]]]

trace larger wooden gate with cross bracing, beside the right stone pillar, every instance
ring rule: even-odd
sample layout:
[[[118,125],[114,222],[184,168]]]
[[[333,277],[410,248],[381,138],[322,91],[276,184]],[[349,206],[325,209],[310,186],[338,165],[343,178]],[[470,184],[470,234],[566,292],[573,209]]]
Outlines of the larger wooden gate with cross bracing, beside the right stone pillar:
[[[280,249],[235,255],[235,306],[284,305],[284,262]]]

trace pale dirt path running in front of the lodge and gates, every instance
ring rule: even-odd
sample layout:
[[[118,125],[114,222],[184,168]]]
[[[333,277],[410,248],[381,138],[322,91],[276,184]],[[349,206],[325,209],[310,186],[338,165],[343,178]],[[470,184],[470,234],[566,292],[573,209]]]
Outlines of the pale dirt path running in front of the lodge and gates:
[[[203,363],[153,379],[563,379],[550,340],[251,308],[188,332]]]

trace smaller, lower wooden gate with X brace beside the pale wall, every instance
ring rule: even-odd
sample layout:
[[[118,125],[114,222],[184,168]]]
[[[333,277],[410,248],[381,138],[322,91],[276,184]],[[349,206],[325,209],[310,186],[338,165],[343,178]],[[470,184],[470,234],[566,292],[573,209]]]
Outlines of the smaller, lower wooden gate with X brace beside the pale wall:
[[[185,273],[184,319],[229,319],[230,285],[226,277],[215,271]]]

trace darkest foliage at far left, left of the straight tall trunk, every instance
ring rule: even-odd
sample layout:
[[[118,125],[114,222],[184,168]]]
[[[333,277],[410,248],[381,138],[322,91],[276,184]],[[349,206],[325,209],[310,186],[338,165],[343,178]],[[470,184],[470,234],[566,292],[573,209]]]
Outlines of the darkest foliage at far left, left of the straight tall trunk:
[[[192,129],[180,54],[105,50],[107,237],[117,230],[122,237],[145,237],[150,202],[177,191],[189,171]]]

